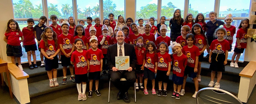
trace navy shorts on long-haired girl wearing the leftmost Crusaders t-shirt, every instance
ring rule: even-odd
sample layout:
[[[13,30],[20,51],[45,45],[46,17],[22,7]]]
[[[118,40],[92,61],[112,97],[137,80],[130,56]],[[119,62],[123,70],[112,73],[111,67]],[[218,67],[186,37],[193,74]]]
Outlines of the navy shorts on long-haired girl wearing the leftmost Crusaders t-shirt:
[[[59,68],[57,55],[55,57],[53,57],[53,59],[48,59],[45,57],[45,70],[46,71],[51,71],[52,69],[57,69],[57,68]]]

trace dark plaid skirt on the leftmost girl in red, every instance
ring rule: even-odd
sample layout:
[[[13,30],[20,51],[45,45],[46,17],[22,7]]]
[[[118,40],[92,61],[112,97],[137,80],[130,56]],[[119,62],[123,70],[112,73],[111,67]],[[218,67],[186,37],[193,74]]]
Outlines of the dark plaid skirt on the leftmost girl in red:
[[[6,54],[7,56],[14,56],[14,57],[21,57],[22,54],[22,48],[20,46],[12,46],[12,45],[6,45]]]

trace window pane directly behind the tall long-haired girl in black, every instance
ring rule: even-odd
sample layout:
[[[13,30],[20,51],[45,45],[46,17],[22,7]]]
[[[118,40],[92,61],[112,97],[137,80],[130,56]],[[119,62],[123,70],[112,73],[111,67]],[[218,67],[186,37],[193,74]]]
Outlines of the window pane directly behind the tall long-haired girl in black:
[[[184,14],[184,3],[178,0],[162,0],[161,16],[166,16],[167,18],[172,18],[173,13],[176,9],[181,9],[180,14],[183,17]]]

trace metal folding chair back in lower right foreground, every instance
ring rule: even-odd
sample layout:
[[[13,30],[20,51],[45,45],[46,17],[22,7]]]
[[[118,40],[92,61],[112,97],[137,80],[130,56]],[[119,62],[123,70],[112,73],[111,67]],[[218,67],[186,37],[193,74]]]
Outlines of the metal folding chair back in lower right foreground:
[[[230,92],[214,87],[200,89],[196,94],[196,104],[199,104],[198,98],[202,99],[204,104],[243,104]]]

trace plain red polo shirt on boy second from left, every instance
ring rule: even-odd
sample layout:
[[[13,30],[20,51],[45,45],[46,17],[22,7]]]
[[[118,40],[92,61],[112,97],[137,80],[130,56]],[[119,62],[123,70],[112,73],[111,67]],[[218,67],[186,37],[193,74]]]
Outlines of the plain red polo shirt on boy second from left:
[[[24,27],[22,29],[22,33],[24,37],[24,41],[23,41],[24,46],[36,44],[34,31],[35,31],[34,27],[32,27],[31,30],[29,30],[28,27]]]

